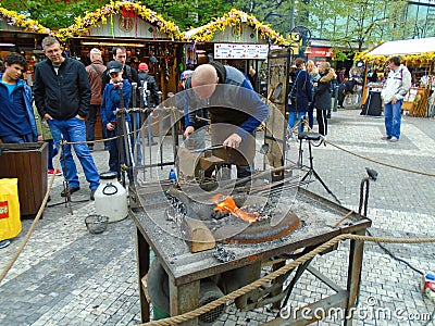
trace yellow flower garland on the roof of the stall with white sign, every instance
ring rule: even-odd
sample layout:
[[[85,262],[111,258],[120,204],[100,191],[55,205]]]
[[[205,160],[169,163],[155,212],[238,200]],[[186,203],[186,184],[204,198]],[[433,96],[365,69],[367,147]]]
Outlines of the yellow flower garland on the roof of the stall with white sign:
[[[214,37],[214,34],[217,32],[224,32],[225,27],[231,26],[237,28],[240,22],[246,23],[247,25],[253,27],[257,33],[259,33],[260,38],[268,39],[270,38],[274,43],[281,46],[288,46],[288,40],[286,40],[278,33],[273,30],[271,26],[261,23],[257,20],[256,16],[249,15],[240,10],[232,9],[228,13],[224,14],[220,18],[215,18],[213,22],[201,26],[195,34],[187,37],[184,36],[185,40],[190,41],[211,41]]]

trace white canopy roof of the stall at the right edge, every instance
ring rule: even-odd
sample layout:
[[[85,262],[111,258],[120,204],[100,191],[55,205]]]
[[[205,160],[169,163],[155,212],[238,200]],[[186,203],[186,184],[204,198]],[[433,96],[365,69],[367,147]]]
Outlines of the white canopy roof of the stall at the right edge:
[[[370,55],[394,55],[413,54],[435,51],[435,37],[405,39],[382,43],[368,54]]]

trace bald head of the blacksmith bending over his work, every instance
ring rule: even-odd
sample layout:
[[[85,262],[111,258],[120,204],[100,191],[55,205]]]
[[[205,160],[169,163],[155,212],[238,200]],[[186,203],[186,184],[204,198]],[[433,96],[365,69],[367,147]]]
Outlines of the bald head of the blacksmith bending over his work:
[[[201,64],[191,74],[191,87],[200,99],[210,98],[217,83],[217,72],[211,64]]]

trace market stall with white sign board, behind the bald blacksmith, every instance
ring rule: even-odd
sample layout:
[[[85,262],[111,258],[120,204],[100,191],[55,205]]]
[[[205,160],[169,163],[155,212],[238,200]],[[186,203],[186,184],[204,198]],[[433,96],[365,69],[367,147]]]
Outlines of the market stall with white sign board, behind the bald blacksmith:
[[[257,72],[254,88],[260,89],[260,79],[265,77],[270,48],[288,45],[288,41],[256,16],[232,9],[220,18],[184,33],[189,41],[185,47],[185,64],[196,66],[211,60],[231,64],[247,75],[249,68]]]

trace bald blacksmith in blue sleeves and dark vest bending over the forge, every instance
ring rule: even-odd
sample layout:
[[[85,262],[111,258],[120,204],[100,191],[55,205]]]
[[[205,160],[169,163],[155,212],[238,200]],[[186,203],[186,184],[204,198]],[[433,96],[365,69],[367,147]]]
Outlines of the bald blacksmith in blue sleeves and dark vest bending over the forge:
[[[253,155],[248,152],[254,154],[253,135],[257,127],[268,117],[268,106],[252,89],[249,79],[235,67],[220,62],[198,66],[190,78],[190,83],[186,85],[191,85],[201,103],[197,109],[202,108],[209,111],[212,126],[221,124],[219,128],[212,128],[213,145],[222,143],[225,148],[239,149],[246,142],[245,148],[250,148],[250,150],[241,148],[239,151],[247,156],[248,163],[251,163]],[[195,131],[194,106],[189,108],[184,134],[186,138]],[[233,127],[225,128],[224,126]],[[249,165],[237,166],[238,178],[250,174]]]

